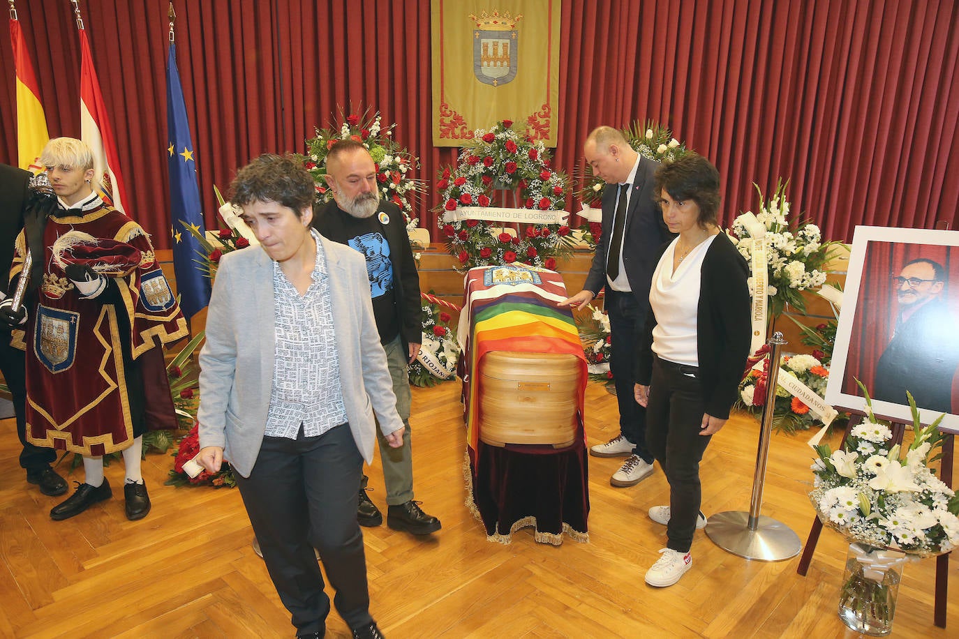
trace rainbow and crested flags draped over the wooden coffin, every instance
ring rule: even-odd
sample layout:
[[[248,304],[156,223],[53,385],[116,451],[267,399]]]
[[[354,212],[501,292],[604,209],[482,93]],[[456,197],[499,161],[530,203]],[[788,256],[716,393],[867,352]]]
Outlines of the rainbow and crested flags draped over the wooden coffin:
[[[544,268],[480,266],[466,274],[457,335],[466,367],[467,442],[473,450],[479,441],[479,374],[483,355],[491,351],[575,355],[582,368],[577,410],[583,414],[586,356],[573,312],[556,306],[567,297],[562,277]]]

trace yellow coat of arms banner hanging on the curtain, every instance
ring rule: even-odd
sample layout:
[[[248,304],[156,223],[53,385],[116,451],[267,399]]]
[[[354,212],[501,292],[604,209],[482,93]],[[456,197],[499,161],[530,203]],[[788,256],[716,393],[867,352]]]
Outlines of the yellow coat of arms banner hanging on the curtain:
[[[433,145],[512,120],[556,146],[560,0],[433,0]]]

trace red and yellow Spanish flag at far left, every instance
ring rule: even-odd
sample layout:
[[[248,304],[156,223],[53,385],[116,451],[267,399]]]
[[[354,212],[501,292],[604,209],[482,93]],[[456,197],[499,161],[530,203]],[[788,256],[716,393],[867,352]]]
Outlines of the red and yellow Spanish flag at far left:
[[[20,22],[10,21],[10,39],[13,45],[13,68],[16,74],[16,141],[21,169],[31,169],[40,151],[50,140],[47,118],[40,104],[39,85],[34,64],[27,54],[27,45],[20,33]]]

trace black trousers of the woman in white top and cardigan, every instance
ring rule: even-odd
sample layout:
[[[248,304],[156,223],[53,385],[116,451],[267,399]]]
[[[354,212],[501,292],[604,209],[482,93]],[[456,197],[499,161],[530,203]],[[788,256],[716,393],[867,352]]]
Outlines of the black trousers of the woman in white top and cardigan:
[[[699,462],[712,436],[699,434],[705,413],[696,369],[655,357],[646,406],[646,445],[669,482],[667,547],[690,552],[702,501]]]

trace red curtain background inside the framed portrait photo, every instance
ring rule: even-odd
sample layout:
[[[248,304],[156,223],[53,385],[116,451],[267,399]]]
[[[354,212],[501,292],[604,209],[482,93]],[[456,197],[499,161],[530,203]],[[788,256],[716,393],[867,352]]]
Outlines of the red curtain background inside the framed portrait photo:
[[[869,241],[862,264],[862,279],[855,301],[853,329],[850,333],[849,353],[842,379],[842,392],[862,397],[855,383],[858,379],[867,389],[874,388],[879,357],[892,339],[899,317],[896,301],[898,286],[891,278],[898,276],[907,262],[925,258],[942,264],[947,285],[940,294],[947,300],[953,314],[959,317],[959,251],[954,246],[936,244],[906,244],[889,241]],[[946,329],[948,330],[948,329]],[[918,380],[917,383],[922,383]],[[959,394],[959,375],[955,376],[953,397]],[[903,398],[901,401],[905,404]]]

